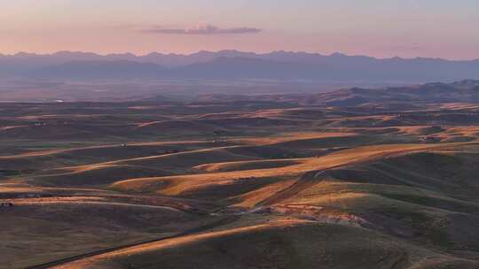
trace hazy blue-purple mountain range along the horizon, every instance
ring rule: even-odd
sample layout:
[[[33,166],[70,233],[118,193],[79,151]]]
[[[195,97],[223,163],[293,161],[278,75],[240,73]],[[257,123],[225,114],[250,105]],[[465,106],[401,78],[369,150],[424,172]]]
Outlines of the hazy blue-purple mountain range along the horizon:
[[[479,59],[371,58],[275,51],[222,50],[191,55],[131,53],[98,55],[61,51],[49,55],[0,55],[0,77],[40,79],[262,79],[275,81],[479,80]]]

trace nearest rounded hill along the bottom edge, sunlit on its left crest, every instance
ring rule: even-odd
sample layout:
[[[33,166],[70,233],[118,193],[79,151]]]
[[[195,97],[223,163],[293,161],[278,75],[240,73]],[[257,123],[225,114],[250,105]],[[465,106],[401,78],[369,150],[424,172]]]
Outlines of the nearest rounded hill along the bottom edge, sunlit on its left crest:
[[[187,253],[188,258],[185,258]],[[347,257],[347,258],[346,258]],[[126,268],[474,268],[448,257],[357,227],[273,220],[153,242],[54,267]]]

